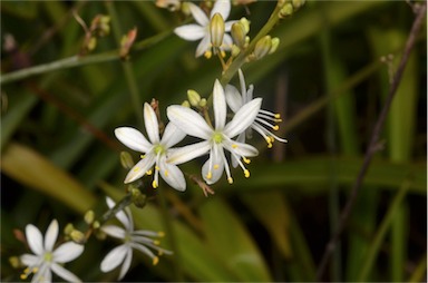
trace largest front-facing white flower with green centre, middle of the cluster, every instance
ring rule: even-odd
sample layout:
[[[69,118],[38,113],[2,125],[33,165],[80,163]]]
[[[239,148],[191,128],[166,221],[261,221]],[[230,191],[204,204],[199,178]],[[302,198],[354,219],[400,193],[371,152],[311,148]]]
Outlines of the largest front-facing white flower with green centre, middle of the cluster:
[[[210,152],[208,160],[202,167],[202,174],[207,184],[213,184],[222,176],[223,170],[226,172],[227,182],[232,184],[231,172],[224,149],[231,152],[231,155],[237,159],[240,166],[244,170],[245,177],[250,176],[250,172],[245,168],[241,158],[249,162],[246,157],[256,156],[257,149],[244,143],[232,140],[235,136],[244,131],[254,121],[262,104],[261,98],[253,99],[244,105],[226,124],[226,100],[224,89],[218,80],[215,80],[213,89],[213,108],[214,108],[214,128],[207,124],[196,111],[184,106],[169,106],[167,116],[169,121],[175,124],[179,129],[189,136],[204,139],[194,145],[177,148],[171,154],[167,162],[184,163],[197,156]]]

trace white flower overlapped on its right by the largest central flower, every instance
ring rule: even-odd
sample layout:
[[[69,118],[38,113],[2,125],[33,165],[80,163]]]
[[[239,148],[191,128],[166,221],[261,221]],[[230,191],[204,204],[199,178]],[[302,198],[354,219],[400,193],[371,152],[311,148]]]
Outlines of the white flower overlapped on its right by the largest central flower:
[[[186,180],[182,170],[173,164],[165,162],[168,150],[172,146],[179,143],[185,134],[177,129],[173,124],[168,124],[165,128],[162,139],[159,139],[159,128],[155,110],[147,103],[144,104],[144,121],[148,142],[140,131],[130,127],[120,127],[115,129],[116,137],[130,149],[144,153],[139,160],[128,173],[125,184],[143,177],[146,173],[150,174],[152,167],[155,165],[155,176],[152,183],[156,188],[159,185],[158,175],[168,183],[169,186],[177,191],[186,189]]]

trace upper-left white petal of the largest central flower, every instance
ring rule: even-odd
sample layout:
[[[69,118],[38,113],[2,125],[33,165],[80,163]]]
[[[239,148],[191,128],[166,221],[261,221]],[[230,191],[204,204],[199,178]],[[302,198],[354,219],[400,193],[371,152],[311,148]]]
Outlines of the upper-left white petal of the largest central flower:
[[[213,133],[204,118],[187,107],[173,105],[166,109],[166,114],[169,123],[174,123],[177,128],[189,136],[208,139]]]

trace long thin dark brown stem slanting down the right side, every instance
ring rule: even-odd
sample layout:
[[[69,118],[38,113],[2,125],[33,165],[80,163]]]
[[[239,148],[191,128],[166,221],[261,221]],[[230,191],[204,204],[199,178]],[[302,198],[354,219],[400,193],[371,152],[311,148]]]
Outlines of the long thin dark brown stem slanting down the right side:
[[[402,55],[402,58],[400,60],[399,67],[397,69],[397,72],[393,76],[393,80],[392,80],[391,88],[389,90],[388,97],[387,97],[387,99],[385,101],[385,105],[383,105],[383,108],[382,108],[382,110],[380,113],[380,116],[379,116],[379,118],[378,118],[378,120],[376,123],[376,126],[374,126],[374,129],[373,129],[373,134],[371,136],[369,146],[368,146],[367,152],[366,152],[363,164],[362,164],[362,166],[360,168],[360,172],[358,174],[358,177],[357,177],[357,179],[356,179],[356,182],[354,182],[354,184],[352,186],[351,194],[350,194],[350,197],[348,199],[348,203],[344,206],[344,208],[343,208],[343,211],[342,211],[342,213],[340,215],[339,227],[338,227],[338,230],[335,231],[334,235],[330,238],[329,243],[325,246],[324,254],[322,256],[321,263],[320,263],[318,272],[317,272],[318,281],[321,280],[321,276],[322,276],[322,274],[325,271],[325,267],[328,265],[330,256],[333,253],[333,251],[335,248],[335,245],[337,245],[337,243],[338,243],[338,241],[339,241],[339,238],[340,238],[340,236],[341,236],[341,234],[342,234],[342,232],[343,232],[343,230],[344,230],[344,227],[347,225],[349,215],[351,214],[353,204],[356,203],[356,199],[357,199],[358,193],[360,191],[362,180],[363,180],[363,178],[364,178],[364,176],[367,174],[367,170],[368,170],[368,168],[370,166],[370,163],[371,163],[371,159],[372,159],[374,153],[379,148],[378,140],[379,140],[380,131],[383,128],[385,120],[387,118],[387,115],[388,115],[388,111],[390,109],[392,99],[395,97],[395,94],[396,94],[397,88],[399,86],[399,82],[401,80],[402,72],[403,72],[403,70],[406,68],[406,64],[407,64],[407,61],[409,59],[409,55],[410,55],[411,50],[414,49],[417,35],[419,33],[419,29],[420,29],[420,27],[422,26],[422,22],[424,22],[427,4],[426,4],[426,2],[424,2],[422,4],[418,3],[418,6],[419,6],[419,9],[417,11],[417,17],[416,17],[416,19],[414,21],[410,35],[409,35],[409,37],[407,39],[406,47],[405,47],[403,55]]]

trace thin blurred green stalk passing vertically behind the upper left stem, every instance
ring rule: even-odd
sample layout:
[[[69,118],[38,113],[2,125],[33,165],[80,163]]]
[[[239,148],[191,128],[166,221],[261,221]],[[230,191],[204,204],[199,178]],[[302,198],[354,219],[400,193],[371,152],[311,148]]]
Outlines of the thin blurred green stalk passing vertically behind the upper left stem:
[[[120,45],[121,37],[124,33],[121,32],[120,20],[119,20],[119,17],[117,16],[116,9],[114,8],[114,2],[106,1],[106,8],[109,16],[111,17],[113,33],[115,35],[117,43]],[[135,116],[137,117],[138,123],[140,123],[140,126],[143,126],[144,125],[143,111],[142,111],[143,103],[139,97],[139,90],[138,90],[137,81],[133,71],[132,62],[123,61],[121,67],[124,69],[125,78],[129,88],[130,99],[133,101]]]

